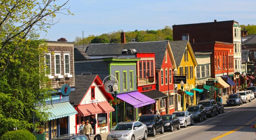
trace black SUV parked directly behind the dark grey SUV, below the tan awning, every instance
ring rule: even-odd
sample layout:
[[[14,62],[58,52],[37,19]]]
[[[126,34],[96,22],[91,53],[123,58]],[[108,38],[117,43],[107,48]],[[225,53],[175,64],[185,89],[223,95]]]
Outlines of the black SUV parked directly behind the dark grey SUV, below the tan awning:
[[[206,114],[213,117],[213,114],[218,115],[218,106],[214,99],[201,100],[198,104],[203,105],[206,109]]]

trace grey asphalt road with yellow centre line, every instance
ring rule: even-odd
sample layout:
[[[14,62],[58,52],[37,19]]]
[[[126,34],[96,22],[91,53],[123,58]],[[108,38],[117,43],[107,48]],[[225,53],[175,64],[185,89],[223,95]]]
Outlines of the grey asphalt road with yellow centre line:
[[[256,140],[256,99],[241,106],[225,107],[224,113],[194,126],[157,133],[148,140]]]

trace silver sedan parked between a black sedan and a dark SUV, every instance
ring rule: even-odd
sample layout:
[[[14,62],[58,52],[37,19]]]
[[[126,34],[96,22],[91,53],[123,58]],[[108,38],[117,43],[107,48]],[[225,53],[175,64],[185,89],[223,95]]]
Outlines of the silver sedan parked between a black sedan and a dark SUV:
[[[187,125],[194,125],[194,117],[188,111],[173,112],[175,116],[180,119],[180,126],[187,127]]]

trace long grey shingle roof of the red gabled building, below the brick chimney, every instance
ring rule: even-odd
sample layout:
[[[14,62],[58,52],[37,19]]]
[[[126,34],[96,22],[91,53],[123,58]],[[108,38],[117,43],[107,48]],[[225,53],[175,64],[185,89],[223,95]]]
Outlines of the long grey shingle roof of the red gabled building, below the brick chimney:
[[[155,53],[156,69],[162,67],[165,51],[168,47],[167,41],[153,42],[133,42],[133,43],[110,43],[110,44],[87,44],[81,48],[75,45],[75,48],[83,49],[89,56],[95,55],[118,55],[122,54],[123,49],[135,49],[137,52]]]

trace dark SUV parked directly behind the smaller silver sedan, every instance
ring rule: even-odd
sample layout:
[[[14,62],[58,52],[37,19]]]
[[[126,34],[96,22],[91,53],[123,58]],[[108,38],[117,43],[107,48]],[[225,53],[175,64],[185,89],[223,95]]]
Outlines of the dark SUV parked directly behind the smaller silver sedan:
[[[193,114],[194,120],[199,120],[200,122],[202,121],[202,118],[206,120],[206,109],[204,109],[203,105],[190,105],[186,111]]]

